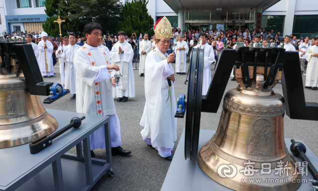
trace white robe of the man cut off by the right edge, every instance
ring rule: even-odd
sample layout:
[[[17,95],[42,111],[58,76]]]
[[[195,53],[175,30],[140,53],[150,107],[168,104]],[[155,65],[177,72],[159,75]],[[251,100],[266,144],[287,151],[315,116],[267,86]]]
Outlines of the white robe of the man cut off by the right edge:
[[[306,71],[306,86],[318,87],[318,56],[311,56],[318,53],[318,46],[311,46],[306,52],[306,60],[308,61]]]

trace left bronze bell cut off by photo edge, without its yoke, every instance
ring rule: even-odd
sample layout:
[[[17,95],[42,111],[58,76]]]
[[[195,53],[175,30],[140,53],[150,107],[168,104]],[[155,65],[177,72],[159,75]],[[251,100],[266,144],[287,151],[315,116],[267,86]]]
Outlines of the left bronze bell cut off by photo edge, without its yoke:
[[[58,127],[56,119],[43,108],[39,96],[30,94],[14,55],[5,57],[10,67],[4,67],[1,56],[0,148],[30,143],[51,134]]]

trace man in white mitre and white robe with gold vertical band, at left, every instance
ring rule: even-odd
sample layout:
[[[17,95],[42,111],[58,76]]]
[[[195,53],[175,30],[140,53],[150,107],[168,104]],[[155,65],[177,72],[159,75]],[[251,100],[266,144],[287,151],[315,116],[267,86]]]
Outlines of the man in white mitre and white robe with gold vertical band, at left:
[[[41,33],[42,40],[38,44],[39,57],[38,64],[40,67],[41,75],[43,77],[53,77],[54,67],[53,67],[53,44],[48,41],[48,34],[46,32]]]

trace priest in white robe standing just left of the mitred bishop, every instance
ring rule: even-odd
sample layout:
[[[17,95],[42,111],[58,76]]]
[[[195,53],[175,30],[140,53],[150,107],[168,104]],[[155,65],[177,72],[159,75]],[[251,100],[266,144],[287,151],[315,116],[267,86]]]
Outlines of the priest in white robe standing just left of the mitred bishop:
[[[139,75],[144,76],[145,66],[146,66],[146,57],[152,49],[151,42],[148,40],[148,33],[144,34],[144,40],[139,44]]]

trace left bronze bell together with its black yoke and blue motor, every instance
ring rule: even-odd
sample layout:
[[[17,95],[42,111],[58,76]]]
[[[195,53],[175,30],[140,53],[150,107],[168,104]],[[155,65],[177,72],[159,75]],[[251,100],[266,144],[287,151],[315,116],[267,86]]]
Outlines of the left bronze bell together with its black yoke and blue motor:
[[[43,82],[31,45],[1,41],[0,148],[30,143],[57,129],[56,119],[44,109],[38,96],[50,92],[47,103],[69,91],[60,84]]]

